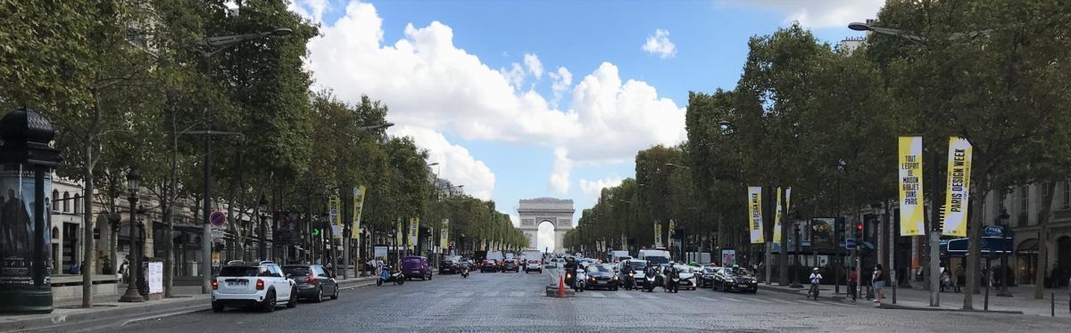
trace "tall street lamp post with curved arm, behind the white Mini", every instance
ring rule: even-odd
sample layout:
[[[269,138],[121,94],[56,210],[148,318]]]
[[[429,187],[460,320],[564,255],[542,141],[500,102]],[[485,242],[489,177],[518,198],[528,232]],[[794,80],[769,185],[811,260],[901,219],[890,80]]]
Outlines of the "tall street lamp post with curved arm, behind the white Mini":
[[[290,29],[275,29],[267,32],[250,33],[241,35],[226,35],[216,37],[206,37],[198,44],[201,46],[201,56],[205,61],[205,75],[209,80],[212,78],[212,57],[230,46],[242,42],[266,38],[269,36],[285,36],[290,34]],[[212,109],[209,102],[205,102],[205,193],[201,197],[203,204],[203,225],[201,233],[201,294],[209,294],[211,286],[209,281],[212,275],[212,228],[209,216],[212,213]]]

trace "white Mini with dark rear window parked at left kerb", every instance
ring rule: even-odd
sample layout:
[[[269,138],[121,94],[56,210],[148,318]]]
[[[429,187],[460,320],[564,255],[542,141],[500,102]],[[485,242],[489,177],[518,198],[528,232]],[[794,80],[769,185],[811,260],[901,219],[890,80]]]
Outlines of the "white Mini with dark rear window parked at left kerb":
[[[226,306],[252,306],[273,312],[280,302],[298,306],[298,287],[273,261],[257,264],[233,260],[212,279],[212,311]]]

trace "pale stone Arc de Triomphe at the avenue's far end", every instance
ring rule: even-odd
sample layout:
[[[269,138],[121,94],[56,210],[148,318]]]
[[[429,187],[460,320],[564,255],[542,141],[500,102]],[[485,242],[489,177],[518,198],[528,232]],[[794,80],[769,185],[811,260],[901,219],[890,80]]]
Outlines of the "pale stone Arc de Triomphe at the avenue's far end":
[[[554,248],[555,252],[564,252],[561,243],[564,242],[565,232],[573,228],[572,200],[561,200],[554,197],[538,197],[521,200],[517,206],[517,215],[521,216],[521,231],[528,237],[528,250],[537,249],[539,243],[539,225],[543,222],[550,222],[554,225]]]

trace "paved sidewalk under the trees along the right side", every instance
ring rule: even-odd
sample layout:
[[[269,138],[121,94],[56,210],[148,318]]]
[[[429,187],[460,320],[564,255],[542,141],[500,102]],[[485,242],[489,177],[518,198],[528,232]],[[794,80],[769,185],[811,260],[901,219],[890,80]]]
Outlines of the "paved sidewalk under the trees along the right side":
[[[760,289],[778,291],[778,292],[788,292],[796,294],[800,297],[806,297],[806,288],[790,288],[787,286],[779,286],[776,284],[771,285],[759,285]],[[850,299],[846,299],[845,286],[841,286],[841,294],[833,292],[832,285],[821,285],[821,291],[818,294],[819,298],[827,299],[836,302],[850,302]],[[1022,286],[1022,287],[1010,287],[1008,288],[1013,297],[997,297],[997,290],[990,290],[990,311],[991,312],[1007,312],[1014,314],[1024,315],[1035,315],[1035,316],[1045,316],[1052,315],[1052,300],[1050,297],[1055,292],[1056,296],[1056,317],[1071,318],[1071,311],[1068,308],[1068,300],[1071,299],[1068,288],[1057,288],[1057,289],[1045,289],[1045,299],[1036,300],[1034,299],[1034,287],[1032,286]],[[896,288],[896,304],[892,304],[892,288],[885,288],[885,299],[881,301],[881,308],[901,308],[901,310],[921,310],[921,311],[963,311],[963,294],[962,292],[940,292],[940,306],[930,306],[930,291],[923,290],[919,286],[915,288]],[[863,288],[863,296],[866,294],[865,287]],[[872,302],[866,299],[859,299],[857,302]],[[982,294],[976,294],[974,297],[974,308],[977,312],[982,312],[985,302],[985,289],[982,289]]]

